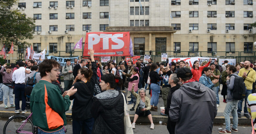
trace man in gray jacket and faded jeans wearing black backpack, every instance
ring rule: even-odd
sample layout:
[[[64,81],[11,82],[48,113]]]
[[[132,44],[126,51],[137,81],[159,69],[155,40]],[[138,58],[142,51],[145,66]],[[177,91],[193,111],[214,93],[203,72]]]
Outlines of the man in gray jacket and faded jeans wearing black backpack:
[[[230,76],[227,76],[227,105],[224,110],[224,117],[225,117],[225,123],[226,123],[226,129],[219,131],[219,133],[231,133],[233,132],[238,132],[237,125],[238,125],[238,116],[237,116],[237,103],[239,100],[234,100],[233,99],[233,89],[234,89],[234,82],[235,82],[235,76],[238,76],[235,74],[236,68],[235,66],[231,65],[227,67],[226,70],[227,74]],[[230,113],[233,116],[233,126],[230,128]]]

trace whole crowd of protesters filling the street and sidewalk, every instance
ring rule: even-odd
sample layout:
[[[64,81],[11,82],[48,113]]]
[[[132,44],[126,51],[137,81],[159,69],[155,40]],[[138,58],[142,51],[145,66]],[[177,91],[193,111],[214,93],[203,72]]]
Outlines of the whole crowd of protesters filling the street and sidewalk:
[[[212,133],[213,119],[220,105],[218,92],[227,103],[224,110],[224,130],[219,133],[238,132],[238,118],[243,110],[246,118],[256,117],[256,62],[244,61],[235,66],[227,60],[222,65],[218,60],[188,62],[147,62],[138,59],[135,63],[122,59],[119,63],[109,60],[104,66],[94,60],[94,50],[89,50],[90,58],[66,59],[65,66],[53,59],[33,60],[1,65],[0,104],[4,108],[15,108],[15,113],[33,112],[33,124],[38,133],[64,133],[65,112],[72,105],[73,133],[126,133],[135,129],[138,117],[148,117],[150,129],[154,129],[152,111],[168,117],[167,130],[174,133]],[[116,64],[118,63],[118,64]],[[64,76],[64,89],[60,76]],[[28,94],[29,80],[35,85]],[[242,99],[234,93],[239,80],[246,91]],[[150,97],[147,97],[149,90]],[[15,99],[14,95],[15,94]],[[127,95],[127,100],[123,95]],[[10,106],[7,106],[9,97]],[[163,108],[159,108],[159,98]],[[13,100],[15,100],[13,102]],[[71,104],[73,100],[73,104]],[[242,109],[243,100],[245,101]],[[30,101],[30,105],[26,102]],[[125,107],[132,105],[135,111],[131,124],[125,122]],[[230,128],[230,117],[233,125]],[[131,127],[127,127],[131,125]],[[256,125],[255,125],[256,130]]]

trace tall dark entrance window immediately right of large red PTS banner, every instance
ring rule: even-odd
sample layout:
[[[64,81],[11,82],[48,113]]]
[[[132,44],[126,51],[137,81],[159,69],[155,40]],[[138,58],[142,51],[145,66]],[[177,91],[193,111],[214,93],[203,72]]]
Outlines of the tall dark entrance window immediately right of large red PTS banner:
[[[134,55],[144,55],[145,52],[145,38],[134,38]]]

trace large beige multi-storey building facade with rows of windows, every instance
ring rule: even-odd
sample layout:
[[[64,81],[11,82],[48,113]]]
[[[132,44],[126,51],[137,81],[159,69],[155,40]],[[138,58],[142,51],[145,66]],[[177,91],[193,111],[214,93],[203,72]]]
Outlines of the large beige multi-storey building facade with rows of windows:
[[[108,26],[172,26],[168,36],[131,31],[134,50],[229,57],[255,55],[256,29],[250,25],[256,21],[255,6],[252,0],[19,0],[12,8],[35,19],[34,39],[28,42],[35,51],[49,46],[49,55],[70,56],[86,32]],[[75,51],[72,55],[80,55]]]

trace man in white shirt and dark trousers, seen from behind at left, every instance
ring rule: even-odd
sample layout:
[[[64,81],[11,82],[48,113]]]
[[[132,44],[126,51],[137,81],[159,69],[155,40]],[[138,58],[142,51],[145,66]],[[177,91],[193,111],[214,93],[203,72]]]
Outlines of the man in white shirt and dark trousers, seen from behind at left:
[[[26,113],[26,96],[25,96],[25,78],[26,78],[26,73],[25,70],[29,70],[27,68],[24,68],[24,63],[19,62],[18,63],[19,69],[16,69],[13,72],[13,82],[15,82],[14,86],[14,94],[15,94],[15,113],[20,113],[20,98],[22,100],[21,104],[21,110],[22,114]]]

